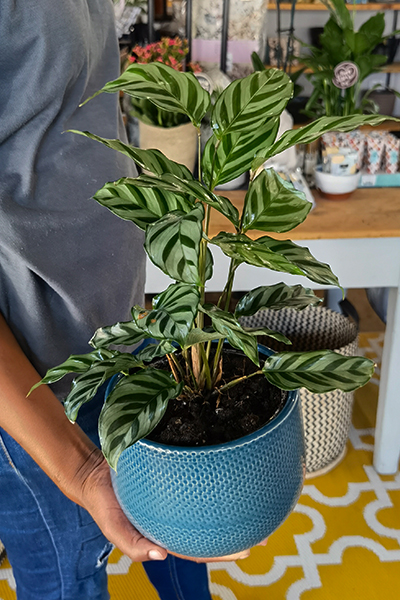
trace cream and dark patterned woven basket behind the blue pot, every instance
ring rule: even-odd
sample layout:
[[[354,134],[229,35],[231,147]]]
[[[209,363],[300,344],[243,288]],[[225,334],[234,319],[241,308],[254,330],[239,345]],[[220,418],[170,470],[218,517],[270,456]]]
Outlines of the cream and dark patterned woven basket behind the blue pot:
[[[243,317],[245,327],[268,327],[280,331],[292,342],[288,347],[260,337],[259,342],[273,350],[335,350],[354,356],[358,350],[358,326],[337,312],[324,307],[310,306],[303,311],[294,309],[262,310],[252,317]],[[335,467],[346,452],[351,425],[354,392],[340,390],[312,394],[300,389],[303,411],[306,469],[309,477]]]

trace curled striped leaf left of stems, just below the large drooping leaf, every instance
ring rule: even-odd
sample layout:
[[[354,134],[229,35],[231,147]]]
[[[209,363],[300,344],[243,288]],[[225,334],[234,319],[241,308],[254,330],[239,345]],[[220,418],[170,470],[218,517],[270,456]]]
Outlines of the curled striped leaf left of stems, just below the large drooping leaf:
[[[198,288],[173,283],[153,299],[153,310],[134,307],[132,316],[139,329],[157,340],[174,340],[184,345],[200,301]]]

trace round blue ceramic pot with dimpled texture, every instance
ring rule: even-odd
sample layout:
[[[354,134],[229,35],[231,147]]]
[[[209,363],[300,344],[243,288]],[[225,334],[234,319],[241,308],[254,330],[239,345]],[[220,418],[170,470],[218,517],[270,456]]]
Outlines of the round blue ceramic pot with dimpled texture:
[[[112,479],[147,538],[186,556],[217,557],[258,544],[288,517],[304,457],[300,403],[289,392],[274,419],[239,440],[187,448],[142,439],[121,454]]]

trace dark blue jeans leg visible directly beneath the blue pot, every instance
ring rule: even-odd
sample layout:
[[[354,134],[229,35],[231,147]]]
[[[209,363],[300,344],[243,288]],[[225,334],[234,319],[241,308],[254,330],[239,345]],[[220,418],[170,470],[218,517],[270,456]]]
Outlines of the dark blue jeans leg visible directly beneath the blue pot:
[[[160,600],[211,600],[205,564],[169,554],[164,561],[143,566]]]

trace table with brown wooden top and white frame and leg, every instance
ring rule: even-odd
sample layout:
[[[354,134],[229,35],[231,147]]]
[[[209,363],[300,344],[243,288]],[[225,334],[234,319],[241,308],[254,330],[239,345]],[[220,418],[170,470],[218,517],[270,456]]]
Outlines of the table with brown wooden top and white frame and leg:
[[[224,195],[240,211],[245,192],[239,190]],[[273,237],[290,238],[306,245],[318,260],[331,265],[344,288],[390,288],[374,466],[379,473],[395,473],[400,457],[400,189],[359,189],[344,201],[324,200],[317,192],[314,196],[316,207],[306,221],[287,234]],[[210,237],[219,231],[233,231],[233,227],[213,211]],[[212,251],[214,276],[207,290],[220,291],[225,285],[229,259],[215,246]],[[246,291],[279,281],[290,285],[302,283],[314,289],[322,287],[305,278],[244,264],[237,271],[234,289]],[[169,282],[169,278],[149,262],[146,291],[162,291]]]

